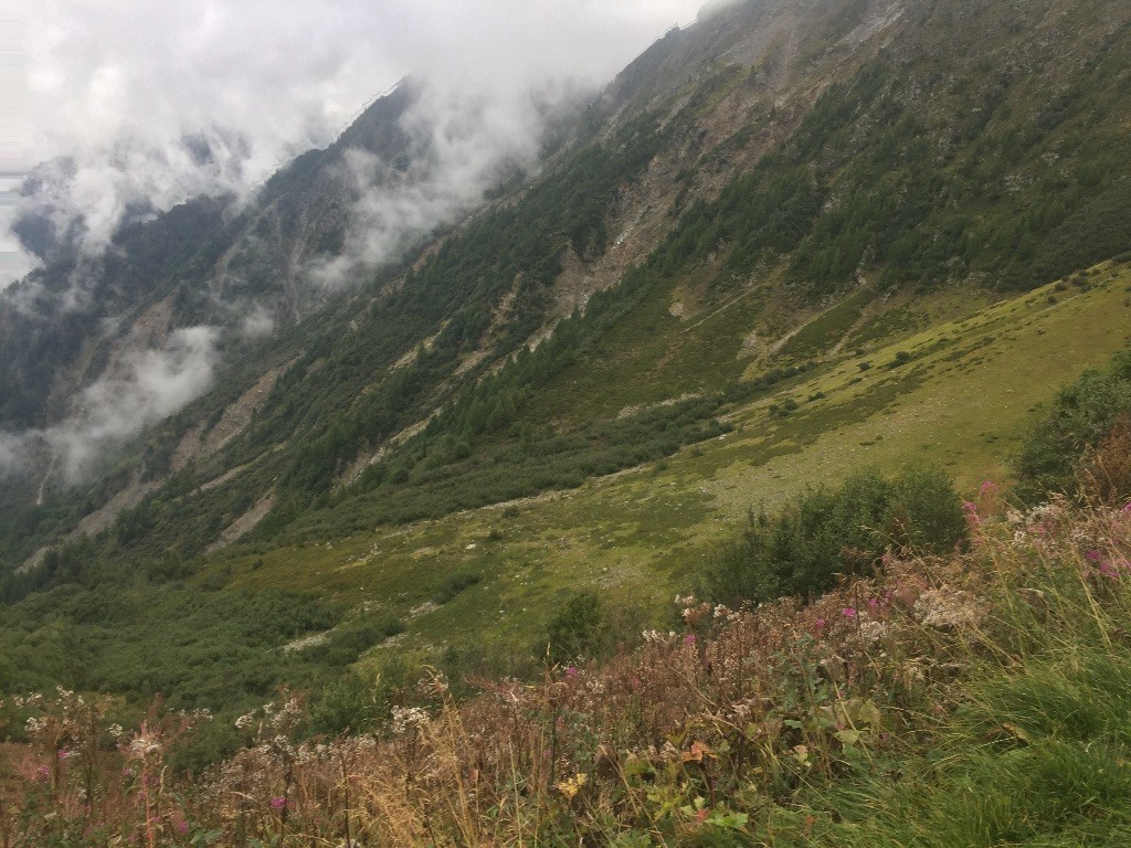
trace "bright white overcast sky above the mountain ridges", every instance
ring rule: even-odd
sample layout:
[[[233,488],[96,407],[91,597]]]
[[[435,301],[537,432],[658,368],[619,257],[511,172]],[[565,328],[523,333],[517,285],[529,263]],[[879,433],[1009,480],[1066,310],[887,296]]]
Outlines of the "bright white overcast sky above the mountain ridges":
[[[26,104],[23,127],[0,124],[0,216],[20,158],[69,156],[58,201],[105,237],[124,202],[239,188],[327,144],[405,75],[502,99],[596,85],[700,2],[0,0],[0,105]],[[180,144],[189,133],[222,162],[199,168]]]

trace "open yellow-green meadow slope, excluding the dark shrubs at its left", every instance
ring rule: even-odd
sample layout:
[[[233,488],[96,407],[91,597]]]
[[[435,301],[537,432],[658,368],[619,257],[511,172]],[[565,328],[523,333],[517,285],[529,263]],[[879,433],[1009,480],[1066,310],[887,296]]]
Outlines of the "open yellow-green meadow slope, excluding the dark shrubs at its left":
[[[1105,268],[1097,279],[1108,276]],[[687,587],[707,547],[751,507],[772,508],[862,465],[891,470],[927,461],[960,488],[1003,478],[1030,410],[1125,346],[1129,282],[1123,269],[1089,291],[1072,288],[1055,305],[1047,300],[1053,287],[1003,301],[874,348],[866,358],[875,367],[866,372],[846,353],[735,407],[735,432],[578,490],[333,543],[234,548],[211,557],[199,579],[231,569],[231,588],[283,586],[359,615],[365,605],[365,615],[405,618],[407,633],[374,649],[374,660],[468,643],[529,651],[561,599],[581,588],[662,622],[671,594]],[[910,361],[882,367],[899,352]],[[770,415],[770,405],[787,397],[797,409]],[[422,609],[460,573],[481,580]]]

